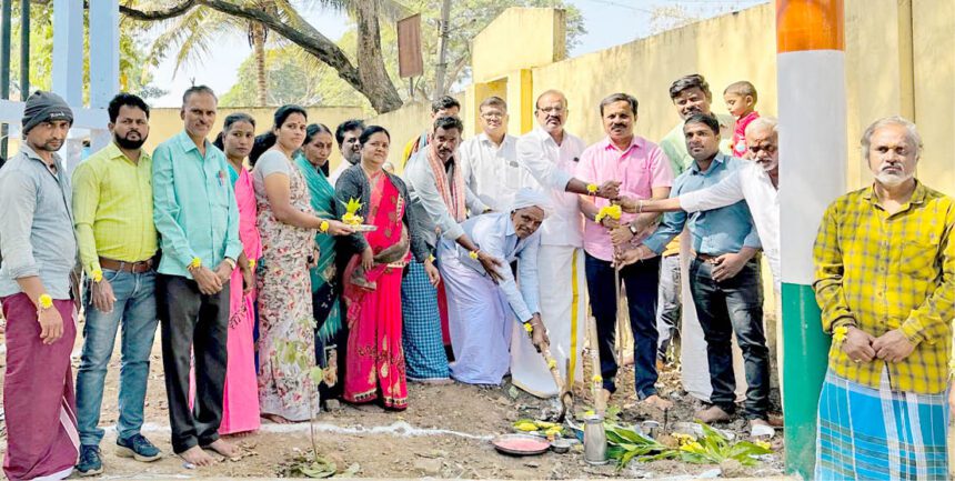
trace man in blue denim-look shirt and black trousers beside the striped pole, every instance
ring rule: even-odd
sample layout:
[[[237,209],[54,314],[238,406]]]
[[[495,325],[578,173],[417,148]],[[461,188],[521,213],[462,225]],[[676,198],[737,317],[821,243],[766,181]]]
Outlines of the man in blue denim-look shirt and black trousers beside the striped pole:
[[[671,197],[715,186],[744,167],[743,159],[718,151],[720,123],[705,113],[695,113],[683,127],[686,148],[693,164],[673,183]],[[753,217],[745,201],[704,212],[671,212],[663,223],[637,249],[624,257],[649,258],[660,253],[684,224],[690,229],[693,261],[690,264],[690,291],[696,315],[706,339],[711,407],[696,413],[707,423],[727,421],[735,411],[735,377],[731,341],[733,332],[746,370],[744,415],[751,428],[768,425],[770,350],[763,331],[763,291],[761,249]],[[627,259],[624,259],[626,262]]]

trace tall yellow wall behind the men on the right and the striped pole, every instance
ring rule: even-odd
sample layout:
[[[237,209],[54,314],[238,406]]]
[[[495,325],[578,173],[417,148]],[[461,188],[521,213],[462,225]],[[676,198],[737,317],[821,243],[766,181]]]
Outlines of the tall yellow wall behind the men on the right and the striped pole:
[[[687,73],[706,77],[717,113],[726,112],[723,89],[736,80],[755,84],[763,114],[775,116],[776,97],[785,94],[776,91],[772,2],[550,63],[544,59],[560,59],[564,49],[556,36],[544,32],[560,33],[563,27],[554,26],[555,19],[562,21],[559,13],[545,11],[509,9],[474,39],[475,83],[460,97],[469,134],[480,131],[476,106],[490,94],[507,101],[509,130],[520,134],[534,126],[536,96],[562,90],[570,101],[567,129],[586,142],[603,137],[600,100],[619,91],[640,101],[637,133],[660,140],[678,122],[667,88]],[[947,152],[955,139],[955,1],[846,0],[845,21],[846,188],[872,179],[858,151],[865,127],[879,117],[902,114],[916,122],[925,143],[918,176],[955,194],[955,159]],[[408,139],[423,130],[429,113],[412,104],[375,120]]]

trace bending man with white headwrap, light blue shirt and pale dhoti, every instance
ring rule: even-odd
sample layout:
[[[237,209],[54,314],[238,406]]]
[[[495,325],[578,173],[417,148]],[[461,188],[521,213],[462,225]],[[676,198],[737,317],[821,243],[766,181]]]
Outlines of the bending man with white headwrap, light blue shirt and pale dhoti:
[[[530,189],[517,192],[506,212],[478,216],[461,224],[479,250],[517,262],[517,281],[507,264],[494,282],[464,247],[444,238],[438,249],[439,269],[448,292],[448,317],[454,362],[451,377],[469,384],[499,385],[511,363],[511,319],[525,327],[539,350],[547,337],[541,321],[537,282],[539,231],[550,201]]]

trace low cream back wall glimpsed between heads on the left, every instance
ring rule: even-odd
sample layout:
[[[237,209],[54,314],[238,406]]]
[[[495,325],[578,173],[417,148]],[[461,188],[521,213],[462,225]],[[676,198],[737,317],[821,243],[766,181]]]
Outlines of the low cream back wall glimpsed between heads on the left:
[[[339,123],[348,119],[362,118],[362,109],[358,107],[312,107],[305,109],[309,112],[310,123],[324,123],[332,132]],[[233,112],[245,112],[255,119],[257,133],[264,133],[272,128],[272,114],[274,108],[244,108],[244,109],[219,109],[215,116],[215,124],[212,127],[210,140],[222,130],[222,122],[225,117]],[[152,151],[155,146],[162,141],[175,136],[182,130],[182,120],[179,118],[179,109],[152,109],[149,119],[149,140],[145,142],[145,149]],[[332,149],[331,168],[334,169],[341,162],[341,154],[338,149]]]

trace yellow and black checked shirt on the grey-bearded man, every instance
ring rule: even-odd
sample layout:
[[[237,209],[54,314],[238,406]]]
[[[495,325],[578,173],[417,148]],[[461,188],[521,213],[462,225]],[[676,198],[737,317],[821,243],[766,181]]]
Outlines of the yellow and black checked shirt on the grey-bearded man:
[[[945,391],[955,315],[953,226],[955,202],[922,182],[892,216],[872,187],[826,209],[813,250],[823,329],[855,325],[878,338],[901,328],[915,343],[906,359],[887,364],[853,362],[833,345],[828,365],[837,375],[878,388],[887,365],[895,391]]]

